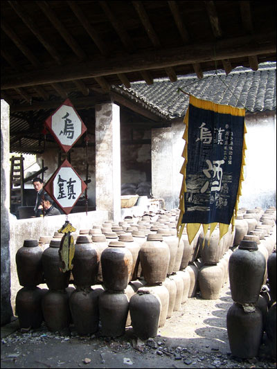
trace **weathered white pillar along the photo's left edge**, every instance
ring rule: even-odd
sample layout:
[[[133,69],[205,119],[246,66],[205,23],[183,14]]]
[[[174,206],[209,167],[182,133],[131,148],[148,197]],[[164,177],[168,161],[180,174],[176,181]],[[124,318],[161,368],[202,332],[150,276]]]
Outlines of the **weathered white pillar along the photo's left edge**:
[[[1,100],[1,325],[10,322],[10,107]]]

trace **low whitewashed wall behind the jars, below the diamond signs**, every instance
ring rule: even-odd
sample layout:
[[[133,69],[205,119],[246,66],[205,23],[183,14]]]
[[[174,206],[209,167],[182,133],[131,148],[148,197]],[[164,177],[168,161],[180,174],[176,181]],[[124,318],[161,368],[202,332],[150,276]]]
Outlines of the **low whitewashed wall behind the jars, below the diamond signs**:
[[[92,228],[94,224],[102,224],[108,219],[108,212],[104,210],[89,211],[86,213],[69,214],[68,220],[77,229]],[[23,246],[24,240],[39,240],[42,235],[53,236],[65,222],[66,215],[56,215],[53,217],[32,218],[32,219],[15,219],[10,216],[10,285],[11,285],[11,304],[15,312],[15,297],[17,291],[22,287],[19,285],[17,278],[17,266],[15,263],[15,255],[17,250]],[[2,247],[1,247],[2,250]],[[2,262],[1,258],[1,262]],[[2,291],[1,291],[2,294]]]

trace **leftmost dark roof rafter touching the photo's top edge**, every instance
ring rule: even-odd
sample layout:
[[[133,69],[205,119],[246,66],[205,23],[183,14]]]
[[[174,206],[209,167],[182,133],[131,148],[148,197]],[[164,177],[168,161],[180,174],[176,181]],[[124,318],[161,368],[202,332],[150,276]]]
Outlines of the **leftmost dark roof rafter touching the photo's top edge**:
[[[33,32],[35,37],[39,39],[39,42],[46,48],[48,53],[53,57],[53,59],[57,62],[57,64],[62,64],[62,58],[57,53],[55,48],[53,48],[53,46],[44,38],[40,30],[35,25],[34,19],[32,19],[27,14],[27,12],[25,12],[23,6],[21,6],[22,2],[20,1],[19,3],[19,1],[16,1],[16,0],[12,0],[12,1],[9,0],[8,3],[15,10],[17,15],[22,19],[22,21],[24,21],[26,26]]]

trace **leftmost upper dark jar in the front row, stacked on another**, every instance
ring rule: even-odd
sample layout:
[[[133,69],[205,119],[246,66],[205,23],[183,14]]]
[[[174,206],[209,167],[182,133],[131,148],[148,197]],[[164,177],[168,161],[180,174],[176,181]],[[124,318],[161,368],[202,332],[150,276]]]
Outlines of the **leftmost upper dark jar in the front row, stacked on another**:
[[[42,253],[37,240],[24,240],[15,255],[19,285],[35,287],[43,282]]]

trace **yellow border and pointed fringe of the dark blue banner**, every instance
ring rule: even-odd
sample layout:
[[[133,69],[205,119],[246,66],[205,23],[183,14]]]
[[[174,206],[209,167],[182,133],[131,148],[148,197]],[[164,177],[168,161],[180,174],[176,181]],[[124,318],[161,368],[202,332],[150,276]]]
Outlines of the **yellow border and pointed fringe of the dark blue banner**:
[[[237,108],[237,107],[231,107],[230,105],[219,105],[219,104],[216,104],[215,102],[195,98],[195,96],[193,96],[193,95],[190,95],[190,104],[195,106],[195,107],[199,107],[200,109],[212,110],[212,111],[215,111],[217,113],[231,114],[232,116],[245,116],[245,109],[241,109],[241,108]],[[184,163],[183,163],[183,165],[181,167],[181,170],[180,170],[180,173],[183,175],[183,181],[182,181],[182,184],[181,184],[181,191],[180,191],[180,195],[179,195],[180,214],[179,214],[179,219],[178,219],[178,222],[177,222],[177,235],[179,237],[179,240],[181,239],[181,235],[182,235],[182,233],[184,231],[184,227],[186,225],[186,224],[182,224],[181,221],[182,221],[183,215],[185,213],[185,195],[184,195],[184,193],[186,192],[186,163],[187,163],[187,158],[188,158],[188,115],[189,115],[189,108],[186,111],[186,116],[184,118],[184,124],[186,125],[186,128],[185,128],[185,131],[184,131],[184,134],[183,134],[183,138],[186,141],[186,143],[185,143],[182,155],[181,155],[184,158]],[[244,136],[243,136],[243,144],[242,144],[242,165],[241,165],[241,170],[240,170],[240,179],[239,179],[239,185],[238,185],[237,198],[236,198],[236,201],[235,201],[235,208],[234,208],[234,211],[233,211],[233,217],[231,219],[232,232],[235,229],[235,218],[237,217],[238,204],[239,204],[240,196],[242,195],[242,181],[244,181],[243,167],[245,165],[245,150],[247,150],[247,145],[245,143],[245,134],[246,133],[247,133],[247,127],[244,123]],[[186,225],[186,230],[187,230],[187,233],[188,233],[188,242],[190,244],[191,244],[191,242],[193,242],[193,239],[195,238],[195,235],[199,231],[200,226],[201,226],[200,223],[188,223]],[[203,231],[204,231],[204,237],[206,236],[208,228],[210,227],[210,234],[209,234],[208,244],[210,243],[210,237],[211,237],[213,231],[215,230],[216,226],[217,226],[217,222],[210,223],[210,224],[202,224],[202,228],[203,228]],[[220,226],[220,240],[221,240],[222,237],[228,232],[229,224],[219,223],[219,226]]]

